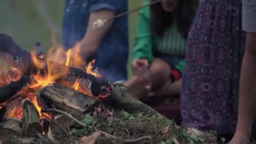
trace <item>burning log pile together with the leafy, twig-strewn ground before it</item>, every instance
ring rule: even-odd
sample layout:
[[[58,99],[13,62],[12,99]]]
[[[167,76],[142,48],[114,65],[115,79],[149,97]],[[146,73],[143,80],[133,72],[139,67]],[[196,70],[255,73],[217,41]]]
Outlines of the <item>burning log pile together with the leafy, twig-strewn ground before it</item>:
[[[0,144],[179,144],[192,139],[91,66],[79,69],[37,57],[5,34],[0,34],[0,58],[13,67],[0,75]]]

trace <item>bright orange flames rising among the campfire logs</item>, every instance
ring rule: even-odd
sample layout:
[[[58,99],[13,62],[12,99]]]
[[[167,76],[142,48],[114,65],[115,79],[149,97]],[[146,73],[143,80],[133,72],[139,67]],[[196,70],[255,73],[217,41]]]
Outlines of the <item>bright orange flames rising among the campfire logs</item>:
[[[50,48],[50,50],[47,52],[46,57],[44,57],[43,54],[40,56],[36,56],[35,51],[31,51],[30,53],[31,59],[35,67],[39,69],[47,69],[48,74],[46,76],[42,76],[39,73],[37,75],[33,75],[37,83],[29,85],[29,88],[43,88],[49,84],[54,83],[56,79],[61,77],[61,75],[67,74],[69,72],[69,67],[77,67],[77,68],[83,69],[83,71],[95,77],[100,76],[100,74],[96,70],[93,70],[93,64],[95,63],[95,59],[93,61],[89,61],[88,66],[85,67],[86,61],[83,61],[83,59],[80,57],[80,43],[77,43],[74,48],[70,48],[65,53],[63,48],[60,48],[56,44],[56,41],[54,39],[52,40],[53,40],[54,47]],[[55,53],[53,53],[54,49],[56,49]],[[42,60],[43,58],[44,60],[46,60],[46,62]],[[12,69],[19,72],[18,69],[14,69],[14,68]],[[0,85],[1,85],[2,77],[5,82],[7,79],[9,79],[7,83],[9,83],[11,80],[14,80],[14,77],[11,77],[11,76],[8,77],[6,75],[1,74]],[[17,78],[16,77],[15,78],[16,80],[19,80],[20,77],[21,75],[19,73]],[[62,84],[65,85],[64,83]],[[88,94],[88,91],[80,88],[80,83],[77,80],[73,85],[66,85],[66,86],[73,88],[75,91],[80,91],[82,93]],[[105,97],[105,96],[100,96],[100,97]],[[32,104],[34,104],[35,108],[39,112],[40,119],[43,119],[43,117],[45,117],[44,115],[46,115],[47,117],[51,117],[48,113],[43,113],[44,115],[42,115],[41,113],[42,108],[37,103],[37,97],[35,96],[34,93],[29,93],[28,98],[30,99]],[[12,115],[16,115],[16,114],[13,113]]]

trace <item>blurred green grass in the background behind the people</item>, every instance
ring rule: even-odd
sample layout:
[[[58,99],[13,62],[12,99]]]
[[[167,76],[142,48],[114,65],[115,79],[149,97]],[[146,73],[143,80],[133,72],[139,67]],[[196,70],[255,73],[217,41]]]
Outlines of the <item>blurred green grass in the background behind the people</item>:
[[[141,6],[144,0],[128,0],[129,9]],[[30,51],[41,42],[44,53],[51,47],[51,32],[61,40],[64,0],[2,0],[0,33],[10,35],[15,43]],[[129,45],[133,47],[138,12],[129,15]],[[52,29],[54,27],[54,29]],[[128,70],[131,77],[131,70]]]

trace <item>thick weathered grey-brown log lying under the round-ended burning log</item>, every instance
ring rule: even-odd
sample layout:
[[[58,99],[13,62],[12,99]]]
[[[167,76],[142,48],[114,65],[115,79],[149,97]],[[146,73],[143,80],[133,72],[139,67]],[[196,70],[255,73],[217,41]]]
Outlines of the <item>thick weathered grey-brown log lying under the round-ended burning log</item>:
[[[57,109],[71,113],[77,119],[82,118],[86,112],[91,111],[100,104],[99,99],[75,91],[60,83],[54,83],[51,86],[40,89],[37,92],[37,96],[43,99],[48,107],[53,105]]]

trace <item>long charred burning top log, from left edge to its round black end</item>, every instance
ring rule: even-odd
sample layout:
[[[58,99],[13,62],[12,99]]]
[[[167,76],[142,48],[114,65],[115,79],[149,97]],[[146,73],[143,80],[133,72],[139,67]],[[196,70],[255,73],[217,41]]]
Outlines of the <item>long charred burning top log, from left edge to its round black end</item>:
[[[0,34],[0,57],[5,59],[13,67],[16,67],[22,71],[22,74],[37,74],[41,72],[44,75],[48,74],[48,65],[53,66],[51,75],[61,74],[67,77],[61,77],[60,80],[66,80],[67,83],[71,84],[69,80],[72,77],[77,78],[80,82],[87,82],[81,85],[82,89],[85,89],[91,96],[100,96],[102,93],[106,93],[111,89],[111,85],[107,83],[104,77],[95,77],[82,69],[67,67],[59,63],[48,61],[46,62],[39,57],[35,56],[37,66],[32,61],[32,56],[30,53],[20,48],[11,37],[5,34]],[[40,69],[39,69],[40,68]],[[108,93],[109,94],[109,93]]]

